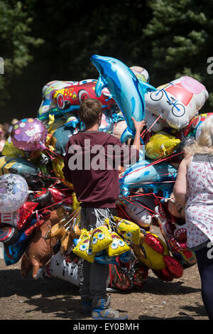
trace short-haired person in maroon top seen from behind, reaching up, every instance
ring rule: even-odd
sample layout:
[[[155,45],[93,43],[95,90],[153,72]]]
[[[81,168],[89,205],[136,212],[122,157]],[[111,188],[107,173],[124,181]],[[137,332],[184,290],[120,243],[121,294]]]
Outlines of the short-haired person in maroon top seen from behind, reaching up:
[[[90,231],[103,225],[106,218],[111,221],[112,216],[115,215],[115,202],[119,197],[119,166],[116,166],[116,155],[111,155],[108,148],[109,146],[121,148],[122,144],[111,134],[99,131],[102,104],[97,99],[85,99],[80,104],[79,115],[85,128],[84,131],[72,135],[67,143],[63,173],[65,179],[73,184],[77,200],[82,206],[80,227]],[[135,162],[139,158],[140,135],[145,122],[136,122],[135,119],[133,122],[136,127],[134,147],[129,148],[125,144],[122,146],[124,150],[119,151],[121,166],[129,164],[132,158]],[[95,164],[94,166],[92,164],[95,158],[93,152],[97,153],[100,147],[104,151],[101,150],[102,156],[99,157],[99,162],[104,163],[105,166],[95,168]],[[111,161],[111,168],[108,168],[110,163],[106,166],[106,161],[107,163]],[[83,260],[82,272],[83,281],[80,287],[82,312],[92,312],[94,319],[128,318],[128,315],[123,315],[109,307],[110,295],[107,296],[109,265]]]

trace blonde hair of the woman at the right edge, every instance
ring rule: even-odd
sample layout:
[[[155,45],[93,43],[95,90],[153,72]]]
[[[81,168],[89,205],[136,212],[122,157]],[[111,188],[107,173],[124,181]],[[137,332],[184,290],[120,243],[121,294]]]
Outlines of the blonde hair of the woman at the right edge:
[[[186,146],[184,151],[190,154],[213,155],[213,115],[203,122],[200,136],[195,144]]]

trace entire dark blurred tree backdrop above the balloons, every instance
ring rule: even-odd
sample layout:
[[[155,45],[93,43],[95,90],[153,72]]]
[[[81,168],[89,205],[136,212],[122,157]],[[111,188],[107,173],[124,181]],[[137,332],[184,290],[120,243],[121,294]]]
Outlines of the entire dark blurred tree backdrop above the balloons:
[[[0,0],[0,122],[36,117],[50,80],[97,78],[92,54],[146,68],[155,87],[195,77],[212,111],[212,14],[212,0]]]

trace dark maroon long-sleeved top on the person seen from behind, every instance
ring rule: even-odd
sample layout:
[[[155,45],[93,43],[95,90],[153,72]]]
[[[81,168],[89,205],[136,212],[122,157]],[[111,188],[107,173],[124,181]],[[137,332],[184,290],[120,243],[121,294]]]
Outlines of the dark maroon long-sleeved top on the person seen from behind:
[[[82,207],[115,208],[119,198],[117,167],[135,163],[138,158],[137,149],[129,149],[110,134],[82,131],[67,143],[63,173],[73,184]]]

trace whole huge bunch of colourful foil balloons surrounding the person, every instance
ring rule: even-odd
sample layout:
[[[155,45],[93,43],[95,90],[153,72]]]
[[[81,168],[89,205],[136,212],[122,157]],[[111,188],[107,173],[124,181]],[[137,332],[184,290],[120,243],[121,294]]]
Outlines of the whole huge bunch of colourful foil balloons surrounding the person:
[[[200,111],[208,92],[192,77],[155,88],[144,68],[100,55],[91,60],[98,79],[48,82],[36,117],[18,121],[6,141],[0,157],[6,265],[21,260],[23,278],[32,270],[34,279],[60,277],[79,285],[78,264],[96,261],[109,264],[108,289],[120,290],[143,286],[150,269],[163,281],[180,278],[196,259],[187,249],[185,214],[173,185],[184,146],[212,114]],[[80,203],[62,172],[67,141],[84,129],[80,103],[89,97],[102,103],[99,131],[121,143],[134,138],[132,116],[146,121],[139,160],[119,174],[114,224],[92,231],[81,229]]]

